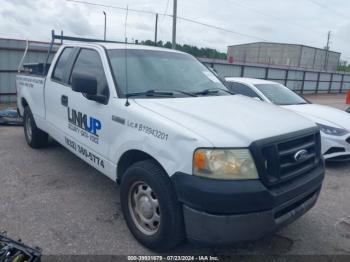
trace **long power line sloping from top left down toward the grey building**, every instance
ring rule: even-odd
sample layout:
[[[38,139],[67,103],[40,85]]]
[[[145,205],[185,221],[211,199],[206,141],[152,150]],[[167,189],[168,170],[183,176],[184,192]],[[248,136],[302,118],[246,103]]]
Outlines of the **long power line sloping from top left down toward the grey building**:
[[[126,8],[125,8],[125,7],[121,7],[121,6],[112,6],[112,5],[97,4],[97,3],[92,3],[92,2],[87,2],[87,1],[80,1],[80,0],[66,0],[66,1],[67,1],[67,2],[78,3],[78,4],[86,4],[86,5],[91,5],[91,6],[99,6],[99,7],[105,7],[105,8],[113,8],[113,9],[118,9],[118,10],[126,11]],[[150,15],[155,15],[155,14],[157,14],[156,12],[153,12],[153,11],[138,10],[138,9],[132,9],[132,8],[129,8],[128,11],[129,11],[129,12],[136,12],[136,13],[150,14]],[[164,15],[167,16],[167,17],[173,17],[173,15],[170,15],[170,14],[164,14]],[[223,27],[219,27],[219,26],[207,24],[207,23],[204,23],[204,22],[196,21],[196,20],[194,20],[194,19],[187,18],[187,17],[180,17],[180,16],[177,16],[177,19],[183,20],[183,21],[187,21],[187,22],[190,22],[190,23],[194,23],[194,24],[198,24],[198,25],[202,25],[202,26],[205,26],[205,27],[208,27],[208,28],[213,28],[213,29],[216,29],[216,30],[224,31],[224,32],[227,32],[227,33],[232,33],[232,34],[235,34],[235,35],[240,35],[240,36],[247,37],[247,38],[251,38],[251,39],[257,39],[257,40],[266,41],[266,39],[263,39],[263,38],[261,38],[261,37],[257,37],[257,36],[253,36],[253,35],[249,35],[249,34],[240,33],[240,32],[234,31],[234,30],[229,30],[229,29],[226,29],[226,28],[223,28]]]

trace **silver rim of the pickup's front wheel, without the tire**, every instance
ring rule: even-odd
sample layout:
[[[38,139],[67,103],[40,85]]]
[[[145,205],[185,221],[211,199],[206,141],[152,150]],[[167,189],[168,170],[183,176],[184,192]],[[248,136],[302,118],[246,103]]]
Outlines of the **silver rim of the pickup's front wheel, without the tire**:
[[[155,234],[160,225],[159,202],[145,182],[135,182],[129,190],[129,211],[136,227],[146,235]]]

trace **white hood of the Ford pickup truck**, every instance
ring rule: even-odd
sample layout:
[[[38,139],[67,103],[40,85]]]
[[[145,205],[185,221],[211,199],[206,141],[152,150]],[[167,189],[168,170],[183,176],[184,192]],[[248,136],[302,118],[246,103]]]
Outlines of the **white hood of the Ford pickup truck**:
[[[289,110],[241,95],[134,101],[214,147],[247,147],[255,140],[315,126]]]

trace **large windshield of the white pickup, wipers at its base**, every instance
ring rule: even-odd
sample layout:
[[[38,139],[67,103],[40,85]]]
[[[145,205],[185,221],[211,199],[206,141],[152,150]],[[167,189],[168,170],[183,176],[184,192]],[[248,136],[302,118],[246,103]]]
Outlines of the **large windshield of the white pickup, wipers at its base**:
[[[165,97],[230,95],[210,70],[187,54],[112,49],[108,56],[118,91],[123,95],[150,98],[164,97],[164,92],[169,92]]]

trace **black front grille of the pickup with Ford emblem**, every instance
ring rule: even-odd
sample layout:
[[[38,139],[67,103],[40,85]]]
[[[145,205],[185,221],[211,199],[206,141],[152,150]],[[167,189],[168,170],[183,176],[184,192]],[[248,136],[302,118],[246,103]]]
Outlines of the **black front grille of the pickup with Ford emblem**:
[[[309,129],[256,143],[253,155],[263,183],[273,187],[315,169],[321,161],[320,140],[319,131]],[[303,157],[296,160],[300,151],[304,151]]]

